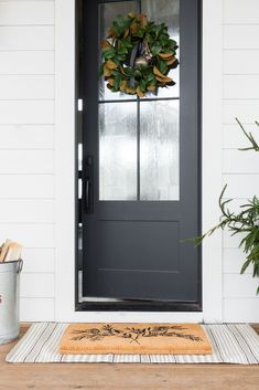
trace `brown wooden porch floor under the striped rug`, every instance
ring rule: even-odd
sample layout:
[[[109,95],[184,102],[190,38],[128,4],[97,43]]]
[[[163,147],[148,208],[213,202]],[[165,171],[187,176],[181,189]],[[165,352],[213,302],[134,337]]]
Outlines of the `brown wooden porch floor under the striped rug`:
[[[14,344],[0,346],[0,390],[259,389],[259,365],[6,363]]]

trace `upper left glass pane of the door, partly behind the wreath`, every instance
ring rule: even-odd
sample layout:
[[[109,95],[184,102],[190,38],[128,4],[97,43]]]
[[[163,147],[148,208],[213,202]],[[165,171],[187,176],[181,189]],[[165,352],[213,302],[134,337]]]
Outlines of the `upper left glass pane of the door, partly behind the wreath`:
[[[121,1],[110,2],[99,6],[99,36],[100,42],[107,36],[107,32],[112,24],[114,20],[117,19],[118,14],[127,15],[129,12],[138,12],[137,1]],[[100,57],[100,64],[101,64]],[[112,101],[112,99],[131,99],[134,98],[132,95],[122,93],[114,93],[106,87],[107,82],[104,77],[99,81],[99,99],[100,101]]]

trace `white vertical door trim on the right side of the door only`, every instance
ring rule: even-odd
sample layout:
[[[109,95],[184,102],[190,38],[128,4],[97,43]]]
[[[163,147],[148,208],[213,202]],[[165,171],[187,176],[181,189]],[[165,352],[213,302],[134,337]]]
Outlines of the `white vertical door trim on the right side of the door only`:
[[[223,124],[223,0],[203,0],[203,141],[202,226],[219,219]],[[213,92],[213,93],[212,93]],[[203,313],[205,322],[223,319],[223,234],[203,243]]]

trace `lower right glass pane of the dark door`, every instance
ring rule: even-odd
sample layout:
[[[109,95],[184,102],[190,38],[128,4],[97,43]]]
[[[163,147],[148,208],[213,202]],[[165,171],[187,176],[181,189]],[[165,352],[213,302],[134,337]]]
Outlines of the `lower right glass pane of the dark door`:
[[[140,200],[179,200],[179,101],[140,107]]]

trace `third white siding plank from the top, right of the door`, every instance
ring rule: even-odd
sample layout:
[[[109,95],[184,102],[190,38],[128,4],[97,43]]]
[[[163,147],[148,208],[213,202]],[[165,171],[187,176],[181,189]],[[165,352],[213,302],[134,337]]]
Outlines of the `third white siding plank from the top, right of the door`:
[[[223,53],[223,72],[225,74],[259,74],[259,50],[225,50]]]

